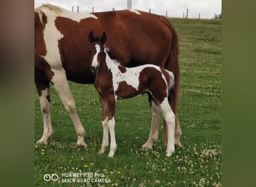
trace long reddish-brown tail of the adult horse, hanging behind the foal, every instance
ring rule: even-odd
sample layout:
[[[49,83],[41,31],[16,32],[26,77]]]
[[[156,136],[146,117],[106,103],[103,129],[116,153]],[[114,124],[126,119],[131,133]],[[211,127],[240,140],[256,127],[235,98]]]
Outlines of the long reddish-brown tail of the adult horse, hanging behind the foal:
[[[169,22],[169,20],[166,19],[164,16],[160,16],[160,19],[168,27],[171,34],[171,43],[170,43],[171,49],[168,55],[168,59],[165,63],[165,69],[174,73],[174,77],[175,77],[174,89],[172,90],[172,94],[170,95],[168,102],[171,105],[171,108],[175,114],[175,136],[176,136],[176,134],[181,135],[180,126],[177,120],[177,106],[178,106],[179,96],[180,96],[179,42],[178,42],[177,32],[175,31],[174,26],[171,24],[171,22]],[[176,132],[177,129],[179,131],[178,133]],[[167,137],[167,127],[166,127],[166,124],[164,123],[163,138],[162,138],[164,144],[166,144],[166,137]]]

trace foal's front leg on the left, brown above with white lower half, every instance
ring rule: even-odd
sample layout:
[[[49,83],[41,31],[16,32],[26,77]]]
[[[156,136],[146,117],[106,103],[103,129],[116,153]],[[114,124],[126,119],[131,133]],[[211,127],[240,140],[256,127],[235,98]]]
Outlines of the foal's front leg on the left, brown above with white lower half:
[[[100,96],[100,103],[102,108],[102,125],[103,125],[103,144],[101,144],[101,149],[99,154],[105,152],[106,148],[109,146],[109,131],[108,131],[108,108],[106,102]]]

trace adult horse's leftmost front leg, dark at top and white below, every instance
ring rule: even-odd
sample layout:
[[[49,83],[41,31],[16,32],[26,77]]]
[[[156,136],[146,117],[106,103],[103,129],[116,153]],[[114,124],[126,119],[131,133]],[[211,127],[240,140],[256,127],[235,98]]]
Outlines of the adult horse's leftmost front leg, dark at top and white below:
[[[38,82],[35,80],[37,92],[40,101],[40,108],[43,115],[43,135],[37,144],[47,144],[47,140],[52,135],[52,122],[50,113],[50,96],[49,96],[49,82]]]

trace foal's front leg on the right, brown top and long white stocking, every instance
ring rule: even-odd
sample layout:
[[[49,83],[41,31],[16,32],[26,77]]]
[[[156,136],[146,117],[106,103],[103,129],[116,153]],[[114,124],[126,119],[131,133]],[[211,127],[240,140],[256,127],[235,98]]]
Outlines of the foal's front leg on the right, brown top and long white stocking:
[[[117,148],[117,143],[115,141],[115,96],[108,96],[106,102],[108,105],[108,126],[110,132],[109,157],[113,157]]]

